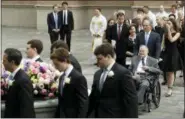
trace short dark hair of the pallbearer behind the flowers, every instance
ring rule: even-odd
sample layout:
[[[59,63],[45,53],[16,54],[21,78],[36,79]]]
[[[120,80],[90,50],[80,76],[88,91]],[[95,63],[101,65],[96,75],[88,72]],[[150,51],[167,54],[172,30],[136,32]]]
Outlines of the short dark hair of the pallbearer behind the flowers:
[[[41,52],[43,50],[43,44],[42,44],[41,40],[32,39],[32,40],[28,41],[27,44],[30,44],[31,48],[36,48],[37,53],[41,54]]]

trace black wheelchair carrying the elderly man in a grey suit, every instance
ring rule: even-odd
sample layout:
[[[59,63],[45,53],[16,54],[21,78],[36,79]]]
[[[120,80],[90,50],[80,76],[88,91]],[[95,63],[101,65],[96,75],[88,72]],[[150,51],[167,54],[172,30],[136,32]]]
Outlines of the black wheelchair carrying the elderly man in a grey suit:
[[[145,72],[139,73],[142,76],[142,80],[148,80],[149,87],[144,95],[144,109],[143,111],[151,112],[152,103],[155,108],[158,108],[161,100],[161,84],[159,82],[159,76],[161,72]]]

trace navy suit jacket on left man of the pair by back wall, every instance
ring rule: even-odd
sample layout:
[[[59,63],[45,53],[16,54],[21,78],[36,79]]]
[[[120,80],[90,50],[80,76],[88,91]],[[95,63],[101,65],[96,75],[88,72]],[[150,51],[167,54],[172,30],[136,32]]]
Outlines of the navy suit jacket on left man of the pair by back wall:
[[[53,12],[49,13],[47,16],[47,24],[48,24],[48,33],[51,33],[53,29],[55,29],[55,20],[53,16]],[[58,29],[61,29],[61,16],[58,13]]]

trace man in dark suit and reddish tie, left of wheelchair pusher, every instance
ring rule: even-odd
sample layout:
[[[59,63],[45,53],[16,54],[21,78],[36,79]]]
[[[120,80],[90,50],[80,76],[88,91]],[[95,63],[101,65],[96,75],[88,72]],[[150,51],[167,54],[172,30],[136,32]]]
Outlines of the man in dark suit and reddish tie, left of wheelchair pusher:
[[[109,40],[115,40],[116,62],[125,66],[126,42],[129,36],[129,27],[124,23],[125,15],[120,12],[117,14],[118,23],[111,28]]]

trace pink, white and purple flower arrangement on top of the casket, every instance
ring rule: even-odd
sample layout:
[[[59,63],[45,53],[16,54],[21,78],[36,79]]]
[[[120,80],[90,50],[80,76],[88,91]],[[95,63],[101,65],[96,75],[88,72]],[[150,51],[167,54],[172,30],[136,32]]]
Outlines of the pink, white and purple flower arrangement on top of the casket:
[[[23,60],[20,67],[28,74],[33,84],[35,99],[55,98],[58,91],[58,78],[60,73],[51,65],[44,62]],[[5,96],[8,87],[12,85],[9,74],[4,70],[1,77],[1,97]],[[1,86],[2,86],[1,84]]]

